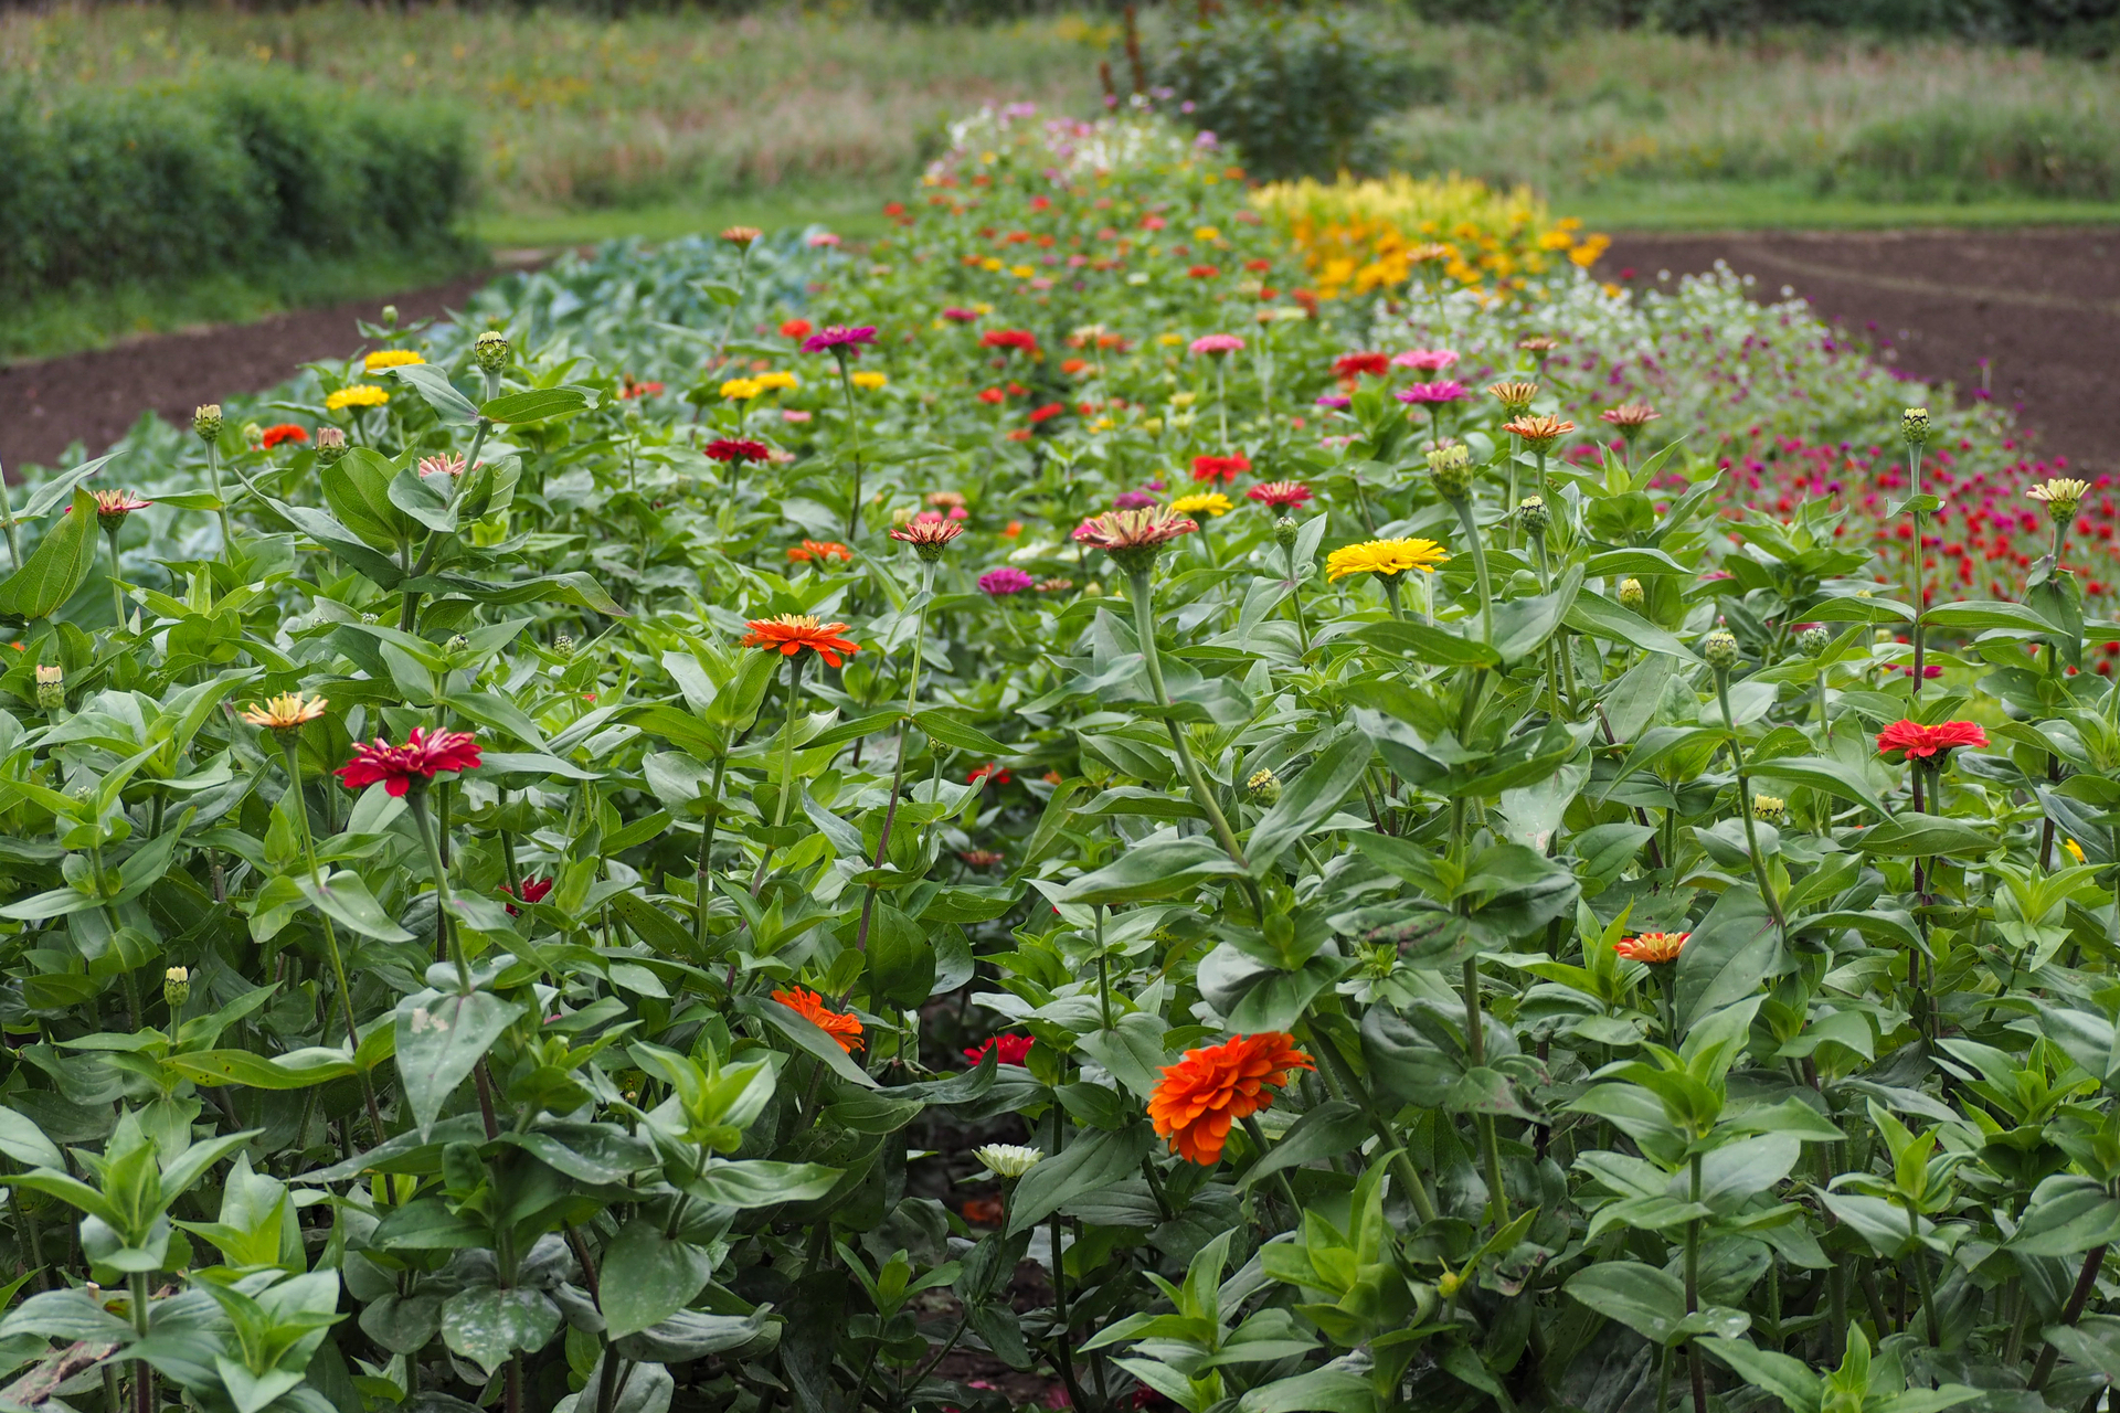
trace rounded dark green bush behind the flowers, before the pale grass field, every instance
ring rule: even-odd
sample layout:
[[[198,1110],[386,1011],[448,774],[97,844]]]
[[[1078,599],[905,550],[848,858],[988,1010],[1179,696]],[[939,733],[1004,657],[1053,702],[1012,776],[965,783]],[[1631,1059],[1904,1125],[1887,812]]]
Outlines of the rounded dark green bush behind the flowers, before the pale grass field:
[[[1370,44],[1361,17],[1312,11],[1206,13],[1153,64],[1194,123],[1236,142],[1266,178],[1376,167],[1372,127],[1448,81]]]

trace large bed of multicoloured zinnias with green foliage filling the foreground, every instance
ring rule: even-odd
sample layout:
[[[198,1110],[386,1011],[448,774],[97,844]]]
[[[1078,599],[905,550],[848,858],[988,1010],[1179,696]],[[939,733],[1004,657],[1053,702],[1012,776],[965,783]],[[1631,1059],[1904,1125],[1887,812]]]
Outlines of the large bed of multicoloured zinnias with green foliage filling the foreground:
[[[1136,117],[890,214],[8,513],[6,1398],[2103,1394],[2120,625],[1897,540],[2092,487],[1728,280],[1317,299]]]

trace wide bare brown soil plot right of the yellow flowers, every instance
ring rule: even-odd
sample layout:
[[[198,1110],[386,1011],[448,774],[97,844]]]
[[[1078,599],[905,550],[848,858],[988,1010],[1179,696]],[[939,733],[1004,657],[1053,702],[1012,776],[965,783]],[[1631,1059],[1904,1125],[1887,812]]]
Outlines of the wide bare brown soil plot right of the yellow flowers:
[[[1802,294],[1908,373],[1950,379],[1961,400],[1989,388],[2037,432],[2035,455],[2120,470],[2105,407],[2120,366],[2120,231],[1620,235],[1598,273],[1632,271],[1639,288],[1715,261],[1757,278],[1760,299]]]

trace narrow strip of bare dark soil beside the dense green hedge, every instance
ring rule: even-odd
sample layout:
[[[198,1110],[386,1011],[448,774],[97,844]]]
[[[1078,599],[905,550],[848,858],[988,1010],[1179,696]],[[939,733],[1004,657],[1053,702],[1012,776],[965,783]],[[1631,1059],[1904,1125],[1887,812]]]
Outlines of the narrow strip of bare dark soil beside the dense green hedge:
[[[93,354],[0,366],[0,466],[51,466],[72,443],[98,455],[140,413],[187,424],[199,403],[263,392],[295,364],[343,358],[358,347],[354,320],[375,320],[394,303],[405,322],[460,307],[496,271],[464,275],[396,299],[363,299],[329,309],[276,314],[257,324],[151,335]]]

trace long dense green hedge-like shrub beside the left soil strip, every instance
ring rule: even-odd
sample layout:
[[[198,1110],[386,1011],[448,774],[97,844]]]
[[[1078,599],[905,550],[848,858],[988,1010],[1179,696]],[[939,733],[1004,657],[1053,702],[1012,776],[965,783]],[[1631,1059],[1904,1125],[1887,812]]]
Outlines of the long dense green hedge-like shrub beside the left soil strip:
[[[117,286],[456,242],[460,119],[254,74],[0,95],[0,290]]]

